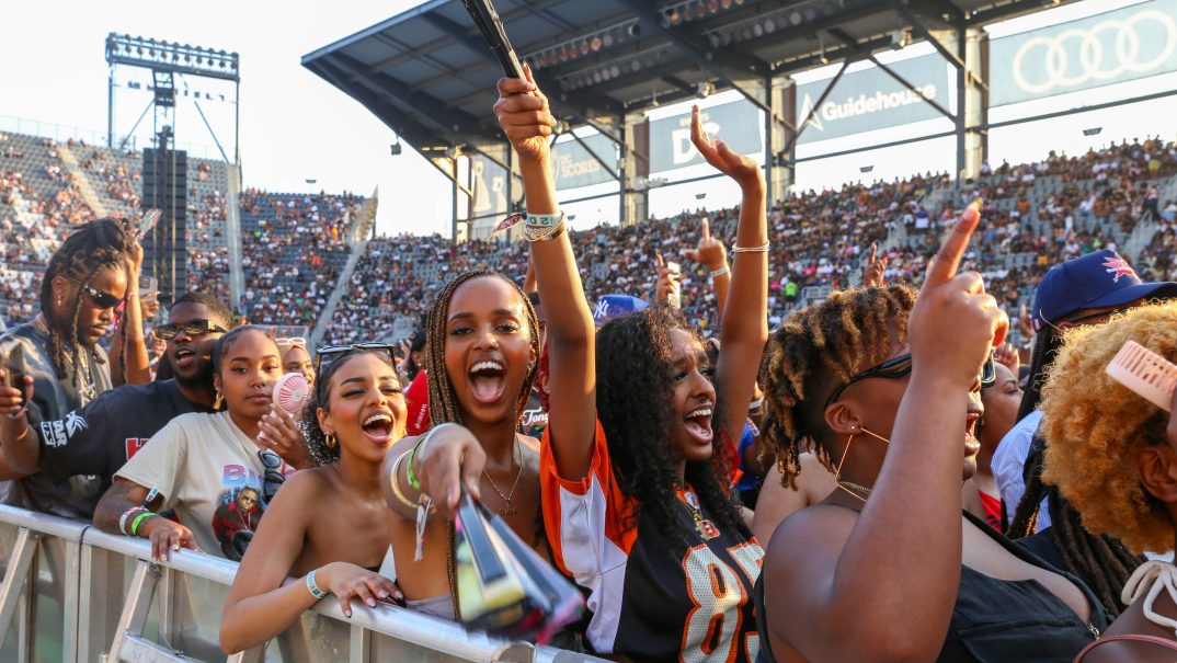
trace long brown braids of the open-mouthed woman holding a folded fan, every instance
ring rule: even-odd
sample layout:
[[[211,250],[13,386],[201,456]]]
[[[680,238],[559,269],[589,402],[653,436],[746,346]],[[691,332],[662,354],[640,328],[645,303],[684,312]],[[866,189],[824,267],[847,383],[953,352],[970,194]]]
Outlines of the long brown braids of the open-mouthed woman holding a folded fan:
[[[458,395],[453,390],[453,382],[450,379],[450,373],[445,367],[445,339],[446,339],[446,318],[450,312],[450,300],[453,299],[453,293],[465,284],[466,281],[477,278],[497,278],[511,284],[511,287],[516,290],[519,294],[519,300],[523,301],[524,316],[527,318],[527,332],[531,336],[531,349],[536,357],[539,357],[539,319],[536,316],[536,307],[531,305],[531,300],[524,293],[519,284],[506,278],[498,272],[491,272],[486,270],[477,270],[471,272],[465,272],[459,274],[453,280],[447,283],[441,292],[433,298],[433,304],[430,306],[428,316],[425,319],[425,370],[430,379],[428,384],[428,403],[430,403],[430,425],[435,426],[438,424],[454,423],[461,424],[464,420],[464,413],[461,411],[461,404],[458,402]],[[523,415],[524,407],[527,405],[527,397],[531,395],[531,385],[536,382],[536,367],[532,366],[527,371],[527,377],[523,380],[523,386],[519,389],[518,405],[516,406],[516,420]],[[453,615],[455,619],[461,619],[461,612],[458,604],[458,571],[457,571],[457,559],[455,559],[455,548],[454,548],[454,531],[453,523],[447,525],[448,530],[448,545],[447,545],[447,559],[446,559],[446,572],[450,578],[450,598],[453,601]]]

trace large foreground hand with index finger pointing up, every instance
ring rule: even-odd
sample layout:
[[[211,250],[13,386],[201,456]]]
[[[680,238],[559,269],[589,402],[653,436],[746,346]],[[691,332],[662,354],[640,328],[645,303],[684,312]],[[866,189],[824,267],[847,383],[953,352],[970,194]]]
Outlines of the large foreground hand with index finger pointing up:
[[[907,323],[913,379],[917,373],[932,370],[963,389],[971,389],[990,350],[1005,340],[1009,318],[985,292],[980,274],[957,273],[979,219],[976,204],[965,208],[927,264],[924,285]]]

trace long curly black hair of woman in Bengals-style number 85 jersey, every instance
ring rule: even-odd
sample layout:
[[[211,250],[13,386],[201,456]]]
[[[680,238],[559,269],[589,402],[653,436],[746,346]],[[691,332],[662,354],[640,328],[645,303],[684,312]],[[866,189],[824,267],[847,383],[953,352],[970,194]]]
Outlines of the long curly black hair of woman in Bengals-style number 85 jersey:
[[[673,406],[671,330],[699,339],[686,318],[666,304],[614,318],[597,332],[597,416],[618,485],[637,502],[633,518],[650,518],[667,541],[680,543],[686,537],[676,483],[683,457],[666,442],[680,424]],[[724,395],[717,397],[712,420],[724,422]],[[726,488],[731,466],[720,449],[731,443],[730,431],[719,433],[711,458],[687,460],[684,478],[718,524],[751,537]]]

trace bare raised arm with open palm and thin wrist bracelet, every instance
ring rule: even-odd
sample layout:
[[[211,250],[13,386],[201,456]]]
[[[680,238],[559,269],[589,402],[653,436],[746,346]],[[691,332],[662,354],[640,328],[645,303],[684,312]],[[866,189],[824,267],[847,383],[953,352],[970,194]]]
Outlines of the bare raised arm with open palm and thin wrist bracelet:
[[[691,141],[709,164],[736,180],[743,192],[716,365],[716,391],[724,399],[723,411],[727,417],[720,422],[720,430],[734,444],[744,429],[764,344],[769,340],[769,219],[764,172],[747,157],[732,152],[723,140],[712,140],[703,128],[698,106],[691,115]]]

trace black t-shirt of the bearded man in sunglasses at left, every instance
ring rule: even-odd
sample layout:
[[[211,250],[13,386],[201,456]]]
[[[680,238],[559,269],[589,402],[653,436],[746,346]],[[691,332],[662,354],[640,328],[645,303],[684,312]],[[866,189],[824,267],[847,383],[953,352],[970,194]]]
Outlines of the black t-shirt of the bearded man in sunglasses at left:
[[[75,475],[97,476],[105,490],[114,472],[168,422],[188,412],[212,411],[185,398],[175,380],[112,389],[39,426],[41,472],[54,482]]]

